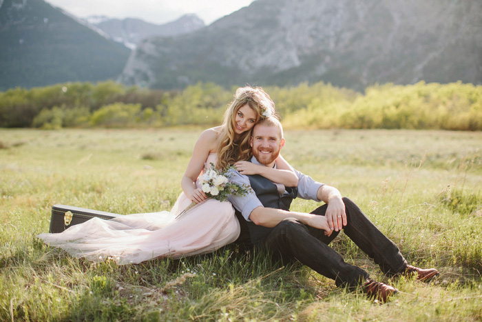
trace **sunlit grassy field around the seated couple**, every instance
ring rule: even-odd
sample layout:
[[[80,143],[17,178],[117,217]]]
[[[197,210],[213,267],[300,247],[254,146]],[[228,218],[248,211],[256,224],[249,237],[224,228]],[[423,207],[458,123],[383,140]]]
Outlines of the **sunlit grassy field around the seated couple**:
[[[341,234],[332,245],[346,261],[400,290],[384,305],[233,246],[117,266],[36,239],[56,203],[169,210],[200,131],[0,129],[0,320],[482,320],[481,132],[286,131],[295,168],[358,203],[410,263],[441,271],[430,284],[390,281]],[[316,206],[296,200],[292,210]]]

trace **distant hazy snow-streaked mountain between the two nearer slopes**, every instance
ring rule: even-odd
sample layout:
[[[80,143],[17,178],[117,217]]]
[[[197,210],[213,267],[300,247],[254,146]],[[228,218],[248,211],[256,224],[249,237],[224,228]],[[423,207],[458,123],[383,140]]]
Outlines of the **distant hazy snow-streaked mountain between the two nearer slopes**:
[[[153,36],[169,37],[187,34],[205,26],[196,14],[185,14],[175,21],[156,25],[140,19],[108,19],[106,17],[89,17],[87,21],[128,48],[136,48],[136,43]]]

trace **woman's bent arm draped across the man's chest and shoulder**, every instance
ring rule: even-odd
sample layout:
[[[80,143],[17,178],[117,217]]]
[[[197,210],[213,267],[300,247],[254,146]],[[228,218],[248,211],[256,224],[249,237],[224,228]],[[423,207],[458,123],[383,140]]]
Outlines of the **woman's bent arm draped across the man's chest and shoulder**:
[[[276,159],[276,169],[254,164],[249,161],[238,161],[234,163],[234,165],[240,174],[260,174],[260,176],[275,183],[282,183],[286,185],[286,187],[296,187],[298,185],[297,175],[281,154]]]

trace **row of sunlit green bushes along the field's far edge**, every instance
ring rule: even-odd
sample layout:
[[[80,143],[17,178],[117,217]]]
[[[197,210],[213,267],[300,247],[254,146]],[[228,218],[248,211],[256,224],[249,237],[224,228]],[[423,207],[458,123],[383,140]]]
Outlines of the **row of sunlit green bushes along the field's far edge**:
[[[0,92],[0,127],[216,125],[234,90],[214,83],[197,83],[180,91],[148,90],[114,81],[14,88]],[[482,130],[482,85],[387,83],[362,94],[320,82],[265,90],[286,128]]]

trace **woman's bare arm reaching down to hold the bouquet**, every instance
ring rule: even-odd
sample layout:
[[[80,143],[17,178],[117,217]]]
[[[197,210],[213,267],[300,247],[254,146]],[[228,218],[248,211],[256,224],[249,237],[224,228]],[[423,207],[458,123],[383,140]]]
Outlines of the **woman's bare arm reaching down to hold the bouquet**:
[[[213,143],[213,135],[215,134],[213,134],[211,129],[202,132],[196,145],[194,145],[191,160],[189,160],[186,172],[181,180],[182,191],[195,203],[200,203],[207,198],[205,192],[200,188],[196,188],[196,179],[198,179],[199,174],[205,167],[205,162]]]

